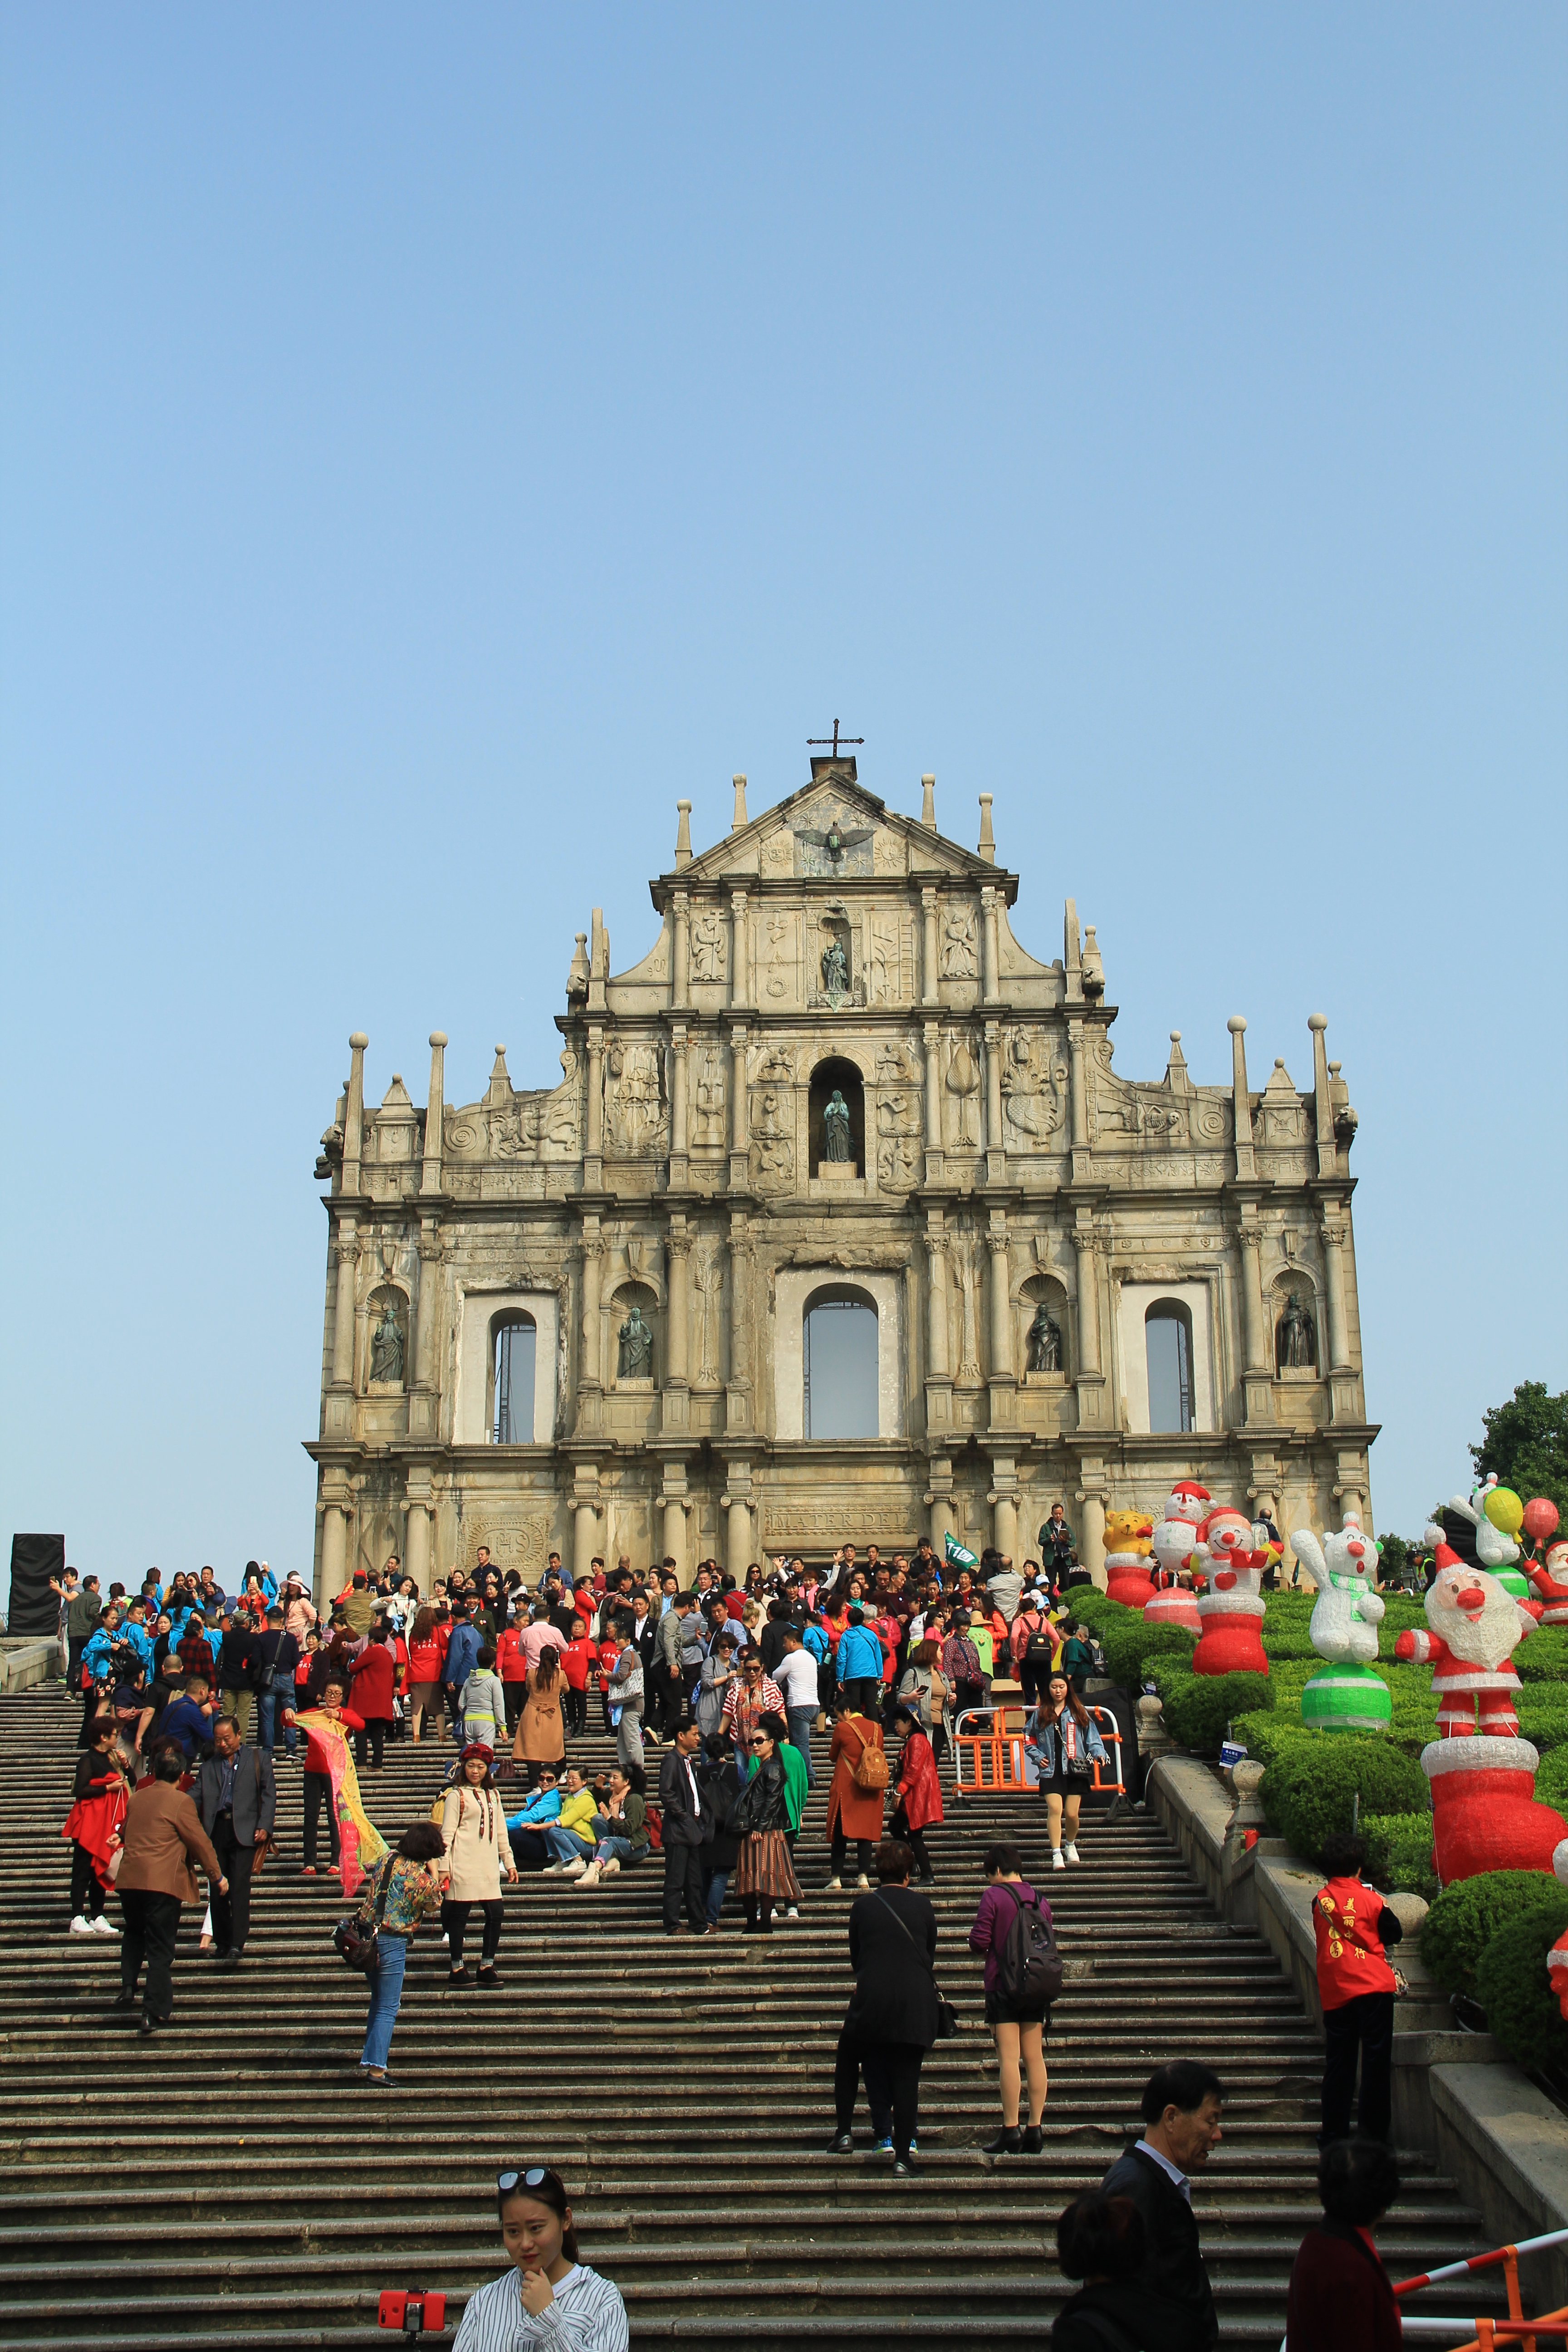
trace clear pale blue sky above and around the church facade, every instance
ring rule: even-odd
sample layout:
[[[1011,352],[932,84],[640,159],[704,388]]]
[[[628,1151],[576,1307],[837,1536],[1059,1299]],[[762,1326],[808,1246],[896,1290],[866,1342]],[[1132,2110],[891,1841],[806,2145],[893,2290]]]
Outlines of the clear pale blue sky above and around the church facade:
[[[308,1562],[369,1091],[806,776],[1309,1080],[1380,1524],[1566,1378],[1559,7],[0,9],[0,1491]]]

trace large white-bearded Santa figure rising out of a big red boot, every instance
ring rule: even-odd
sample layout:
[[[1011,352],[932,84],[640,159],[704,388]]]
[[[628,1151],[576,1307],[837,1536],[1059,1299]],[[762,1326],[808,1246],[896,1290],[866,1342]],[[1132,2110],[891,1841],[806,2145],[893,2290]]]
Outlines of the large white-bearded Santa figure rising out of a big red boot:
[[[1443,1886],[1483,1870],[1552,1870],[1568,1823],[1535,1799],[1540,1757],[1519,1736],[1512,1656],[1535,1618],[1486,1569],[1436,1545],[1429,1632],[1401,1632],[1394,1656],[1432,1665],[1439,1738],[1422,1750],[1432,1783],[1432,1860]]]

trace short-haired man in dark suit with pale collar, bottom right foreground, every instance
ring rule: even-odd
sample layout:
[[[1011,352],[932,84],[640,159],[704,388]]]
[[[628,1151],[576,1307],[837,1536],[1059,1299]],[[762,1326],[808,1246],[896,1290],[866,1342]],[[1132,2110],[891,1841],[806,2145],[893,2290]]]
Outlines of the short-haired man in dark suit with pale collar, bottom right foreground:
[[[1192,2183],[1220,2145],[1220,2077],[1192,2058],[1157,2067],[1143,2091],[1143,2138],[1107,2171],[1107,2197],[1143,2213],[1147,2253],[1138,2284],[1185,2321],[1187,2352],[1213,2352],[1220,2321],[1192,2218]]]

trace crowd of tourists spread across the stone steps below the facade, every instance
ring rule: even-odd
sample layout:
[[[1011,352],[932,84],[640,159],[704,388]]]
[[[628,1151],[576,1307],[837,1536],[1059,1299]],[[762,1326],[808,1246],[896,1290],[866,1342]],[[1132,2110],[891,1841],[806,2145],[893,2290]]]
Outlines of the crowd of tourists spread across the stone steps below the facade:
[[[1105,1762],[1084,1705],[1084,1682],[1103,1661],[1072,1618],[1070,1583],[1081,1571],[1060,1505],[1053,1519],[1065,1543],[1048,1541],[1048,1522],[1044,1559],[1023,1571],[999,1555],[943,1564],[922,1545],[912,1559],[882,1562],[875,1548],[860,1559],[846,1545],[823,1573],[795,1559],[736,1581],[705,1562],[686,1588],[672,1562],[646,1576],[630,1562],[614,1573],[595,1562],[574,1585],[550,1555],[529,1592],[480,1552],[473,1571],[454,1569],[430,1595],[397,1559],[381,1573],[355,1571],[320,1613],[299,1576],[277,1581],[266,1562],[247,1564],[233,1595],[212,1569],[167,1585],[148,1576],[134,1597],[115,1585],[101,1597],[96,1578],[66,1571],[66,1686],[82,1703],[63,1825],[71,1933],[113,1936],[106,1896],[118,1893],[115,2006],[141,2002],[143,2034],[172,2018],[181,1905],[200,1900],[202,1877],[202,1945],[214,1966],[240,1966],[252,1882],[275,1849],[282,1755],[303,1780],[301,1875],[324,1875],[355,1900],[348,1940],[357,1936],[371,1955],[360,2082],[395,2091],[390,2042],[423,1926],[440,1933],[451,1985],[496,1987],[503,1882],[543,1872],[592,1893],[661,1856],[665,1933],[717,1936],[733,1893],[743,1933],[771,1936],[778,1915],[799,1917],[797,1839],[806,1795],[825,1773],[825,1891],[856,1898],[846,1910],[856,1990],[837,2046],[827,2152],[853,2152],[865,2086],[872,2154],[917,2176],[922,2063],[947,2030],[924,1893],[936,1879],[926,1832],[943,1820],[943,1750],[964,1715],[990,1703],[992,1679],[1020,1686],[1051,1870],[1079,1858],[1081,1795]],[[569,1762],[590,1710],[616,1743],[616,1762],[592,1778]],[[390,1738],[451,1748],[430,1818],[411,1823],[395,1849],[357,1778],[383,1769]],[[1359,1863],[1354,1842],[1335,1851],[1354,1893]],[[1307,2263],[1302,2249],[1302,2321],[1291,2338],[1302,2347],[1312,2265],[1333,2270],[1347,2227],[1368,2241],[1368,2199],[1394,2194],[1378,2136],[1387,2133],[1392,2006],[1378,1936],[1394,1940],[1399,1924],[1387,1907],[1373,1924],[1361,1903],[1363,1926],[1347,1936],[1356,1905],[1335,1882],[1319,1907],[1328,1917],[1319,1936],[1331,2020],[1328,2251]],[[1060,1957],[1051,1905],[1006,1842],[985,1851],[969,1947],[983,1959],[1001,2100],[985,2152],[1039,2154]],[[1363,2138],[1345,2143],[1356,2058]],[[1063,2270],[1084,2281],[1053,2331],[1067,2352],[1213,2343],[1185,2176],[1220,2138],[1220,2100],[1208,2070],[1164,2067],[1145,2096],[1145,2138],[1100,2192],[1063,2213]],[[625,2343],[616,2288],[576,2263],[559,2176],[541,2166],[503,2173],[498,2204],[515,2267],[470,2300],[458,2347]],[[550,2303],[555,2319],[543,2317]]]

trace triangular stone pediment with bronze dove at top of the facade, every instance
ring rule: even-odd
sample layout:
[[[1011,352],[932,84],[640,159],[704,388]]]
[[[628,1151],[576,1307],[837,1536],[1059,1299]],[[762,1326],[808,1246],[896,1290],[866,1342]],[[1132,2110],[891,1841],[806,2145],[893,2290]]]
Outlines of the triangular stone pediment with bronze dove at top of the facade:
[[[811,783],[776,802],[722,842],[693,856],[661,884],[762,875],[764,880],[856,880],[889,873],[961,873],[999,880],[987,858],[950,842],[931,826],[889,809],[856,776],[853,760],[813,760]],[[835,849],[837,842],[837,849]]]

